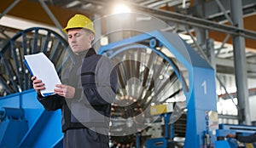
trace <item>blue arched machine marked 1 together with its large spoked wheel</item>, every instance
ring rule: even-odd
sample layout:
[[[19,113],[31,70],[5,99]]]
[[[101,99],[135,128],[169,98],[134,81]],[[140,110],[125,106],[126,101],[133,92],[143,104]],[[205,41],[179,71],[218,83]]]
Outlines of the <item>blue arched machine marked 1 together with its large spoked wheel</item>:
[[[158,116],[152,115],[150,107],[173,103],[175,106],[165,124],[178,125],[174,125],[171,136],[169,130],[160,136],[168,140],[182,135],[184,147],[201,147],[205,145],[206,134],[211,134],[211,143],[207,145],[214,145],[218,121],[208,121],[208,112],[217,111],[215,72],[181,37],[150,31],[109,43],[99,54],[112,59],[119,72],[119,91],[113,102],[110,130],[114,140],[118,141],[119,136],[143,134],[142,131],[168,114],[162,109]],[[179,119],[182,120],[178,122]],[[182,132],[177,134],[178,131]],[[153,142],[147,139],[148,145]]]

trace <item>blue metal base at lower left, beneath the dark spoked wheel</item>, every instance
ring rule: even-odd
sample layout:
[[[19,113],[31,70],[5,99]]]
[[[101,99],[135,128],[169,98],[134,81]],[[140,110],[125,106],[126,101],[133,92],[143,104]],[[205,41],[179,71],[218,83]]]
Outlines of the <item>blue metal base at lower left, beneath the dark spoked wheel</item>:
[[[24,111],[24,120],[21,122],[9,121],[8,119],[0,122],[0,135],[4,135],[0,139],[0,147],[3,144],[15,145],[7,147],[62,146],[61,111],[45,111],[36,96],[36,92],[30,89],[19,94],[11,94],[0,98],[1,108],[12,107],[19,109],[20,107]],[[11,141],[16,142],[11,143]]]

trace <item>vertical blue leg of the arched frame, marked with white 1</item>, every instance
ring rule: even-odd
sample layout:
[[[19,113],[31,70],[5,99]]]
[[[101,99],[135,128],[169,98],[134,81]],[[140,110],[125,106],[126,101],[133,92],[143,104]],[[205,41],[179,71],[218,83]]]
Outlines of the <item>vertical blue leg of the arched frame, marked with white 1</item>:
[[[203,69],[194,67],[193,92],[189,99],[188,119],[185,146],[195,145],[200,147],[204,145],[205,132],[207,131],[206,111],[217,111],[217,98],[215,92],[215,76],[212,69]],[[216,138],[214,138],[216,139]],[[212,140],[212,145],[214,145]]]

